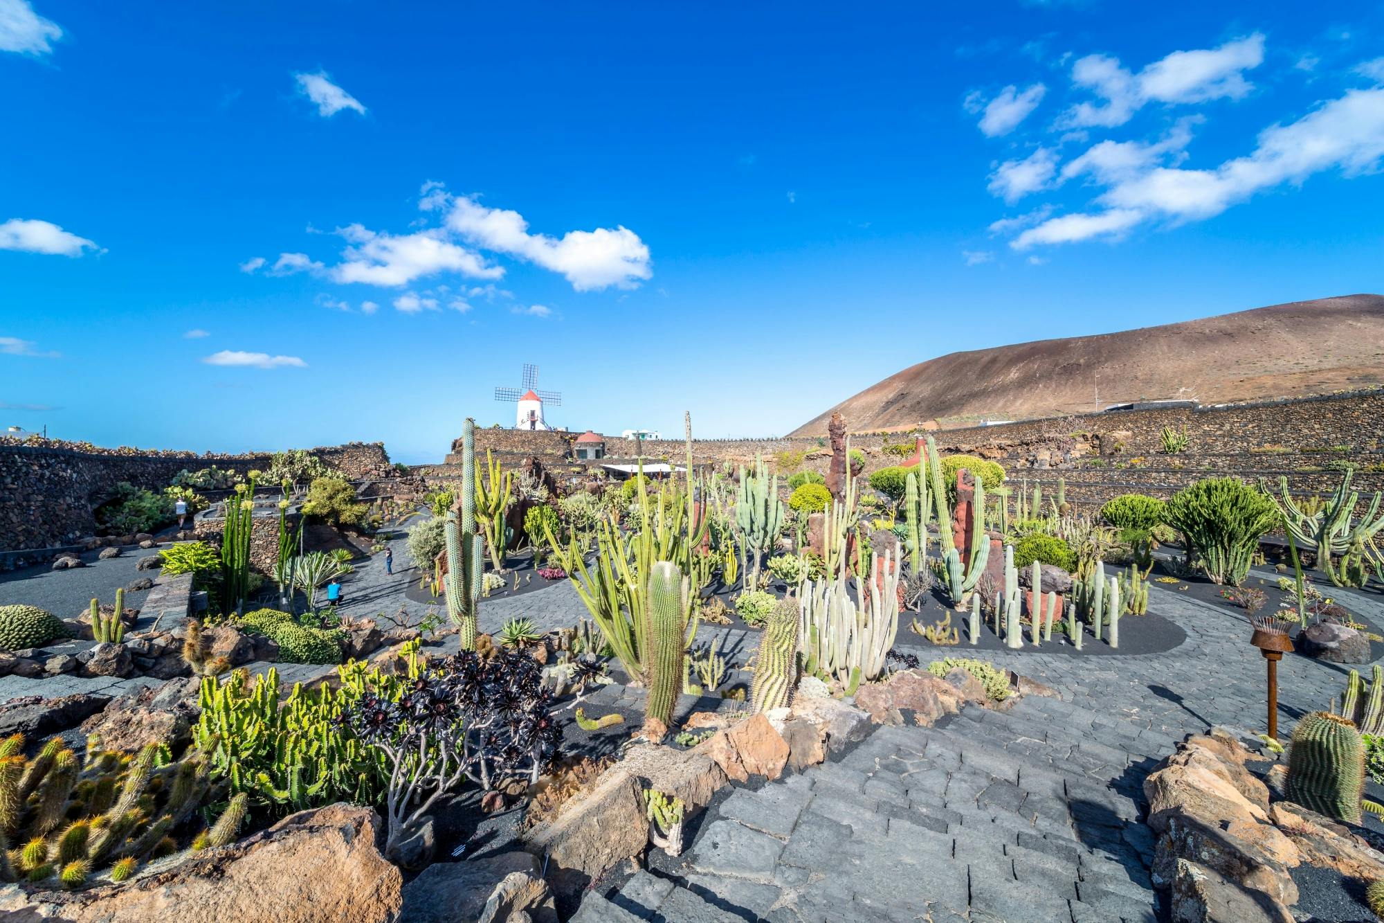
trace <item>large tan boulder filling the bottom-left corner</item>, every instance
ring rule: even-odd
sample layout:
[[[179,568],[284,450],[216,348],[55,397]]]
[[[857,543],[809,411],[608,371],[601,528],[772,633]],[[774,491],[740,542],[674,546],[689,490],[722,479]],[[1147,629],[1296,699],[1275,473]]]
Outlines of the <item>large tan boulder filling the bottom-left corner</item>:
[[[24,920],[274,920],[385,923],[397,919],[399,869],[375,848],[374,811],[334,804],[284,818],[268,830],[159,870],[87,891],[0,891],[0,912]]]

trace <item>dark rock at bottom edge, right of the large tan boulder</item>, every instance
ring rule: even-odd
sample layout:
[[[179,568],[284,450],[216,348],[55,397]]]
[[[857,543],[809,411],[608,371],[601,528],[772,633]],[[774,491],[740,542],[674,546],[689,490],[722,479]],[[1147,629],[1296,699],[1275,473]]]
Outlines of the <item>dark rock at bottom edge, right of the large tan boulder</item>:
[[[403,919],[410,923],[505,923],[513,913],[558,922],[541,863],[529,852],[437,862],[404,887]]]

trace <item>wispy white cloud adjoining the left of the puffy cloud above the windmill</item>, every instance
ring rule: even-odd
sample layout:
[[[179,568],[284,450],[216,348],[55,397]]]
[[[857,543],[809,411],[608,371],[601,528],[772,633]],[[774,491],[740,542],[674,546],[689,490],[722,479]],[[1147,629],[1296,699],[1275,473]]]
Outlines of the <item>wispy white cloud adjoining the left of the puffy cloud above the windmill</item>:
[[[487,266],[480,254],[453,244],[436,229],[396,237],[350,225],[338,233],[352,243],[343,254],[346,262],[332,267],[339,283],[401,287],[444,270],[473,279],[505,274],[502,266]]]

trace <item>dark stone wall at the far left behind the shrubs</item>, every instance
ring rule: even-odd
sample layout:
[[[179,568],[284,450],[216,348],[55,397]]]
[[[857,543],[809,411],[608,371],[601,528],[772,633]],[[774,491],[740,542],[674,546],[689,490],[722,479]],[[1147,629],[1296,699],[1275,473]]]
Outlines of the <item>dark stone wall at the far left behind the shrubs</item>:
[[[311,449],[352,481],[397,477],[381,442]],[[183,468],[246,473],[267,468],[270,453],[217,455],[104,449],[58,439],[0,439],[0,552],[68,545],[95,531],[93,510],[127,481],[161,491]]]

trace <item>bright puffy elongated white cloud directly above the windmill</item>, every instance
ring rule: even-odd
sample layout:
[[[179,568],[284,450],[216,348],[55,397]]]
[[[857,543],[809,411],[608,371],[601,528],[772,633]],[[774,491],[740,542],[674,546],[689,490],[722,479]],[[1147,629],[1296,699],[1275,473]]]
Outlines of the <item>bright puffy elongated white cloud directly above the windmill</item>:
[[[567,231],[561,238],[530,234],[519,212],[487,208],[475,198],[451,200],[447,227],[464,240],[562,273],[577,291],[634,288],[653,276],[649,248],[627,227]]]

